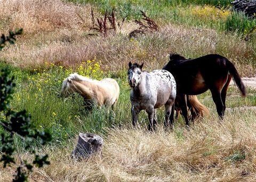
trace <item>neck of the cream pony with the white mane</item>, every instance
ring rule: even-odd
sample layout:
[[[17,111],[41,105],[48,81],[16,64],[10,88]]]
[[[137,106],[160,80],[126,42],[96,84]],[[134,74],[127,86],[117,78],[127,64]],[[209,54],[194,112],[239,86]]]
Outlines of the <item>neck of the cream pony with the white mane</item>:
[[[92,99],[95,93],[95,84],[92,84],[89,81],[76,81],[73,80],[74,85],[76,87],[76,92],[81,94],[81,96]]]

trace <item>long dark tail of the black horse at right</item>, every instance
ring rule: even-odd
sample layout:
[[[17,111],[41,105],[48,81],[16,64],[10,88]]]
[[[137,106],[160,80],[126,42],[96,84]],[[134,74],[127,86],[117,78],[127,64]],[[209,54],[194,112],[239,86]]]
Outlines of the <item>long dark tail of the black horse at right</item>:
[[[226,60],[228,71],[233,76],[233,80],[235,84],[238,86],[239,90],[242,92],[243,96],[246,96],[246,88],[244,83],[241,80],[241,77],[239,76],[235,66],[233,63],[231,63],[229,60]]]

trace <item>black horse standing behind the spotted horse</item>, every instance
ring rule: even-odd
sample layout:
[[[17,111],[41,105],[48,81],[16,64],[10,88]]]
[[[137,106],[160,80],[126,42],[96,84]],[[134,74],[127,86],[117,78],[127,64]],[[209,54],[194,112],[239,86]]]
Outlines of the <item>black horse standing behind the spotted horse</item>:
[[[222,119],[226,109],[226,94],[233,77],[242,95],[246,95],[245,85],[235,66],[226,58],[210,54],[196,59],[186,59],[178,54],[170,54],[170,61],[163,70],[169,71],[177,83],[177,97],[181,111],[189,126],[187,99],[188,95],[197,95],[210,89],[218,115]]]

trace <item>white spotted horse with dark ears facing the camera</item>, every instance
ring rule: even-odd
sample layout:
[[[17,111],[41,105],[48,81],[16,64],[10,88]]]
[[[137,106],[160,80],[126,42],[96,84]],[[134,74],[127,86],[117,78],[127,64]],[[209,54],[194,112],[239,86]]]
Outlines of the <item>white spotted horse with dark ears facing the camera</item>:
[[[132,124],[135,126],[141,110],[146,110],[149,119],[148,129],[154,131],[157,123],[156,108],[165,106],[165,126],[173,127],[176,82],[172,74],[165,70],[142,71],[141,65],[129,63],[128,80],[132,88]]]

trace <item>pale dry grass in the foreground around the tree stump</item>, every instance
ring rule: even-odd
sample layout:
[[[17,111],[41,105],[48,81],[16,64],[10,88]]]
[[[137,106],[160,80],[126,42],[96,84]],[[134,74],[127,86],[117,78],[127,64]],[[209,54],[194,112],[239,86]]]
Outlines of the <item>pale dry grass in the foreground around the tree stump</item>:
[[[179,124],[174,132],[109,129],[102,156],[81,162],[70,159],[75,138],[47,149],[51,165],[36,169],[30,181],[255,181],[255,117],[249,108],[227,111],[222,124],[207,117],[189,131]],[[10,180],[12,172],[2,170],[0,180]]]

